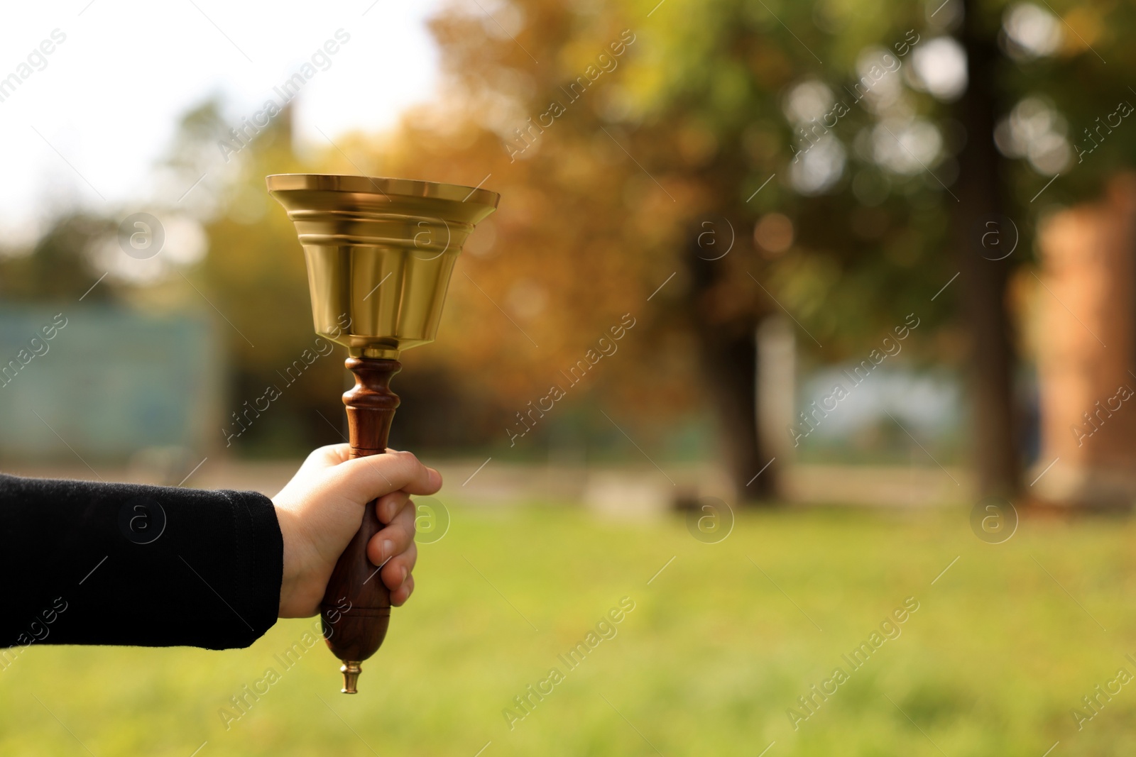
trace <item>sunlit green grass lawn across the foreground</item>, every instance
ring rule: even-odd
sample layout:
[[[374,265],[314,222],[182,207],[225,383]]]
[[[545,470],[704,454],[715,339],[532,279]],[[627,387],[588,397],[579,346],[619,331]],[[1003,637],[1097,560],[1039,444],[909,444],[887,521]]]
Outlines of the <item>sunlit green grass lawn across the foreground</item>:
[[[1136,681],[1081,731],[1070,710],[1136,673],[1136,524],[1028,520],[988,545],[968,516],[743,513],[705,545],[677,516],[454,508],[359,696],[321,646],[274,659],[310,621],[224,653],[33,647],[0,673],[0,755],[1130,754]],[[625,596],[618,634],[567,670]],[[850,671],[907,597],[902,634]],[[786,709],[837,665],[850,680],[794,731]],[[268,666],[281,680],[226,730],[218,710]],[[565,680],[510,730],[502,709],[552,666]]]

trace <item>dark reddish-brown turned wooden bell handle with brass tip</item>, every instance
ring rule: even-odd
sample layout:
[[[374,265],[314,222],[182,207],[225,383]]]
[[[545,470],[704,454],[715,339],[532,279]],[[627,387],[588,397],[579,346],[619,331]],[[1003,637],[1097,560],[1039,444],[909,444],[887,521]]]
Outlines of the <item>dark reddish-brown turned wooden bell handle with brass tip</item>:
[[[381,455],[386,451],[391,420],[399,397],[391,377],[402,369],[396,360],[348,358],[356,385],[343,395],[348,409],[351,456]],[[375,502],[367,503],[362,524],[335,563],[320,606],[324,638],[343,662],[343,692],[356,693],[360,663],[378,649],[391,622],[391,592],[367,557],[367,542],[383,528]],[[387,555],[390,557],[390,555]]]

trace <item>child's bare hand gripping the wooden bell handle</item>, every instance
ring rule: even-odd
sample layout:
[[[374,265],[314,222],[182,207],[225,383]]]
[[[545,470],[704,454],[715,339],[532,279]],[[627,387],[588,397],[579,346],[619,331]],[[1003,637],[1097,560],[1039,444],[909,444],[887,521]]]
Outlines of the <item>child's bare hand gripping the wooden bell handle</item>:
[[[350,460],[345,444],[320,447],[292,480],[273,497],[284,537],[281,617],[309,617],[319,612],[335,562],[362,523],[364,507],[378,497],[378,520],[385,523],[367,545],[367,556],[399,606],[415,589],[410,571],[418,557],[415,508],[410,495],[442,488],[442,476],[409,452]],[[384,565],[385,561],[385,565]]]

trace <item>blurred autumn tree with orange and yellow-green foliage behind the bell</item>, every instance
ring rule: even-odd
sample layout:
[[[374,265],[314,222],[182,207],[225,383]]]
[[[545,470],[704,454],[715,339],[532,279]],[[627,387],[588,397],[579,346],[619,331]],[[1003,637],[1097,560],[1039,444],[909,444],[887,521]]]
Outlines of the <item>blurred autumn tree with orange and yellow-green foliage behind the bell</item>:
[[[930,302],[950,278],[932,258],[947,226],[942,187],[864,161],[860,193],[878,195],[870,208],[847,179],[819,191],[813,177],[797,191],[792,157],[803,137],[780,116],[786,89],[819,68],[810,48],[847,73],[885,34],[902,42],[914,14],[880,5],[829,36],[805,6],[778,8],[780,20],[736,1],[652,10],[528,0],[492,12],[456,6],[435,20],[445,94],[394,138],[371,142],[369,158],[348,161],[463,184],[492,177],[486,185],[504,195],[495,241],[482,249],[475,234],[449,305],[499,329],[434,359],[503,365],[471,372],[535,399],[607,321],[634,312],[624,347],[634,358],[596,371],[611,406],[673,419],[708,395],[738,496],[768,498],[775,471],[753,479],[770,457],[755,428],[757,325],[784,309],[803,343],[838,360],[907,313],[935,322],[943,312]],[[782,22],[811,28],[807,42]],[[860,109],[842,128],[875,121]],[[353,149],[366,154],[368,143]],[[824,169],[815,162],[800,159],[804,179]]]

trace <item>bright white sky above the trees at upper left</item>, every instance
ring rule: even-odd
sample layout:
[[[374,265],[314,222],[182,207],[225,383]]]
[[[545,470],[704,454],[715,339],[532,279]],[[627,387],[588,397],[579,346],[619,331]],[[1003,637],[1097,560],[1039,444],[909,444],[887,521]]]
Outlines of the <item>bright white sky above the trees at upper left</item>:
[[[186,109],[220,92],[234,121],[251,117],[340,28],[350,41],[296,99],[300,138],[326,144],[320,131],[334,140],[391,126],[435,91],[437,50],[425,20],[438,3],[9,3],[0,84],[10,74],[26,78],[15,92],[0,89],[0,233],[26,237],[52,207],[109,212],[144,201],[154,186],[151,166]],[[64,42],[36,53],[55,30]]]

